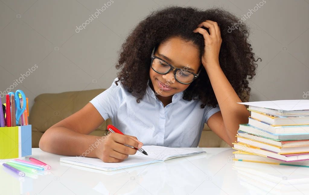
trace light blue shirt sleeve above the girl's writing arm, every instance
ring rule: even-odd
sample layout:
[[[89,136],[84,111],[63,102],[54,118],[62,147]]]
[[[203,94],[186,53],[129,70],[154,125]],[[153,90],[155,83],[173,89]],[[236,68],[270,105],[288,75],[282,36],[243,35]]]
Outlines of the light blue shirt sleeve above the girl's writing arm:
[[[117,80],[118,78],[113,81],[108,89],[90,101],[104,120],[112,118],[125,99],[125,89],[122,88],[120,82],[117,82],[118,85],[116,85],[115,81]]]

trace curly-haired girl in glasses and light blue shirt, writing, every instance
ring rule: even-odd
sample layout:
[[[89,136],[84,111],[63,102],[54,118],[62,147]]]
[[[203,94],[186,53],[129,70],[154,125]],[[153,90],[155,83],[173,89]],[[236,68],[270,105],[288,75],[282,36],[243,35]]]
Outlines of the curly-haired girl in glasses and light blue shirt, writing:
[[[95,144],[87,157],[121,162],[136,153],[124,144],[197,147],[205,123],[232,145],[249,116],[236,102],[249,95],[258,60],[239,21],[220,8],[151,13],[122,45],[112,85],[50,127],[40,148],[80,156]],[[107,118],[125,135],[87,135]]]

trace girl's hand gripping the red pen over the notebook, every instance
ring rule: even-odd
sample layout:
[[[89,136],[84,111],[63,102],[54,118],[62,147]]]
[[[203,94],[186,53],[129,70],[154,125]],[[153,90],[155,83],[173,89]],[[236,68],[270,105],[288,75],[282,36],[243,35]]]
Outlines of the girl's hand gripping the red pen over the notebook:
[[[110,133],[106,136],[103,143],[99,144],[99,147],[96,149],[96,156],[105,163],[122,162],[127,159],[129,155],[133,155],[137,151],[124,144],[135,148],[141,148],[143,145],[143,143],[138,141],[134,136]]]

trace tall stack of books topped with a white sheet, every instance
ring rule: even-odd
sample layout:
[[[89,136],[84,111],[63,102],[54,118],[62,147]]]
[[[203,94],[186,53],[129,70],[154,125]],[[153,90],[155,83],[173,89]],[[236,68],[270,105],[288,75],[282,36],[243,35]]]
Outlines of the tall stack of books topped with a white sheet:
[[[241,104],[251,116],[239,125],[233,160],[309,167],[309,100]]]

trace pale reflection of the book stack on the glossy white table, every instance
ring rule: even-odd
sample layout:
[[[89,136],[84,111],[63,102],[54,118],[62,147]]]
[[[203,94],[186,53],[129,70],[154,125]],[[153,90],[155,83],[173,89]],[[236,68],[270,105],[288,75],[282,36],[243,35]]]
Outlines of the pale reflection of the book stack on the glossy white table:
[[[252,194],[309,194],[308,168],[233,161],[233,169]]]

